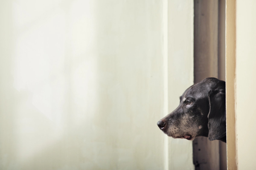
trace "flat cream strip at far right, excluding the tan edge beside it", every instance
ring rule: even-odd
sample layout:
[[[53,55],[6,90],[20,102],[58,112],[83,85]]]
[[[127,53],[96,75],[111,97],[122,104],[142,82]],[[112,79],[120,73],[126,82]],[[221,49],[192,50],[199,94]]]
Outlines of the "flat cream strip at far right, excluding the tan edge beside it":
[[[255,0],[236,1],[236,132],[239,170],[256,162],[256,11]]]

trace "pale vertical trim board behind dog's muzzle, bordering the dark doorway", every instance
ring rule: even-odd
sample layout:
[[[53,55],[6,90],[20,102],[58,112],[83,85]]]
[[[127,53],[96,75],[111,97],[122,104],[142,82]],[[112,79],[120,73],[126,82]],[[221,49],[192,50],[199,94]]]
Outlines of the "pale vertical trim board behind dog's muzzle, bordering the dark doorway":
[[[171,113],[180,103],[179,96],[194,83],[194,1],[168,2],[168,112]],[[169,169],[195,169],[192,141],[169,138]]]

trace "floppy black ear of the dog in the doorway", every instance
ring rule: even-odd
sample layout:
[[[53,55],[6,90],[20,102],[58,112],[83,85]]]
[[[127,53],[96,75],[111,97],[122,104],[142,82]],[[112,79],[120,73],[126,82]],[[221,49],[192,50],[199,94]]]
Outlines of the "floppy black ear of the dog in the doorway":
[[[208,139],[210,141],[226,136],[226,94],[225,90],[210,91],[208,114]]]

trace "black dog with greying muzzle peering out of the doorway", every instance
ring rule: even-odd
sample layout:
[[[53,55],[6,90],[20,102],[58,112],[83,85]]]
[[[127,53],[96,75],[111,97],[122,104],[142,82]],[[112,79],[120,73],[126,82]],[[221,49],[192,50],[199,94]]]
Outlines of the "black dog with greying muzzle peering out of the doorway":
[[[206,78],[180,96],[180,105],[159,122],[158,127],[173,138],[193,140],[198,136],[226,142],[225,82]]]

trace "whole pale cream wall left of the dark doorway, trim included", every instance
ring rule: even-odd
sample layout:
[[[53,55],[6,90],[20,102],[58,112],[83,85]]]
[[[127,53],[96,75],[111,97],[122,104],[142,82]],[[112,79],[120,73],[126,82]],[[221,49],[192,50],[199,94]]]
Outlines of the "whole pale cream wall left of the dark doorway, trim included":
[[[1,0],[0,169],[194,169],[156,125],[193,83],[192,23],[192,0]]]

